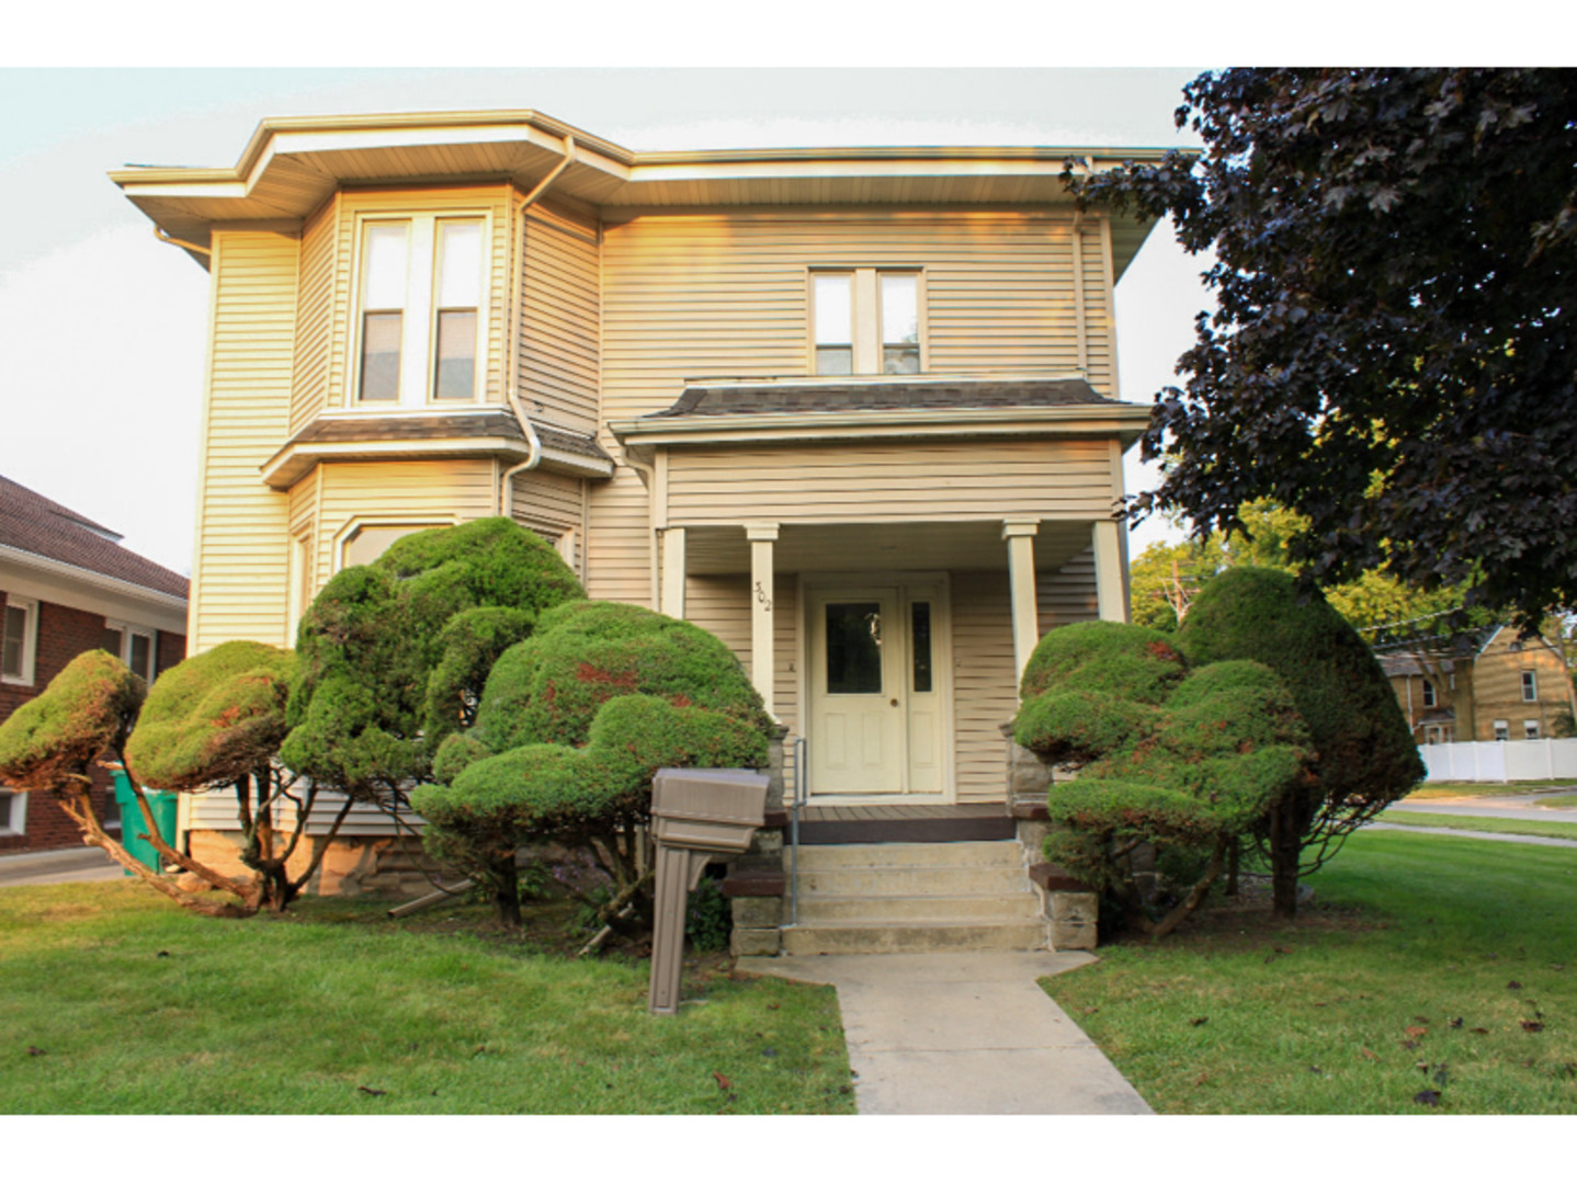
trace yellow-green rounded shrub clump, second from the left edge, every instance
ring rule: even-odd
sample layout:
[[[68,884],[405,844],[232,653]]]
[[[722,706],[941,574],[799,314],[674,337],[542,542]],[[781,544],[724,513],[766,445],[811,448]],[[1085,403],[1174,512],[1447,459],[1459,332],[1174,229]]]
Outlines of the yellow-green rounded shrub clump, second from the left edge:
[[[226,642],[167,670],[142,705],[126,758],[145,785],[197,790],[267,769],[285,738],[296,659]]]

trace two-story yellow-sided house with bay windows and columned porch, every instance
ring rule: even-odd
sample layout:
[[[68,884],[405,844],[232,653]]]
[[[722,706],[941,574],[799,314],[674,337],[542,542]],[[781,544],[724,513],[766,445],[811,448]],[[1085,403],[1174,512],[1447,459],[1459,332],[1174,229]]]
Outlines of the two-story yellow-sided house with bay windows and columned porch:
[[[509,514],[722,637],[812,806],[1001,810],[1038,637],[1124,620],[1112,292],[1148,225],[1064,162],[637,153],[536,112],[265,121],[112,173],[211,273],[197,651]]]

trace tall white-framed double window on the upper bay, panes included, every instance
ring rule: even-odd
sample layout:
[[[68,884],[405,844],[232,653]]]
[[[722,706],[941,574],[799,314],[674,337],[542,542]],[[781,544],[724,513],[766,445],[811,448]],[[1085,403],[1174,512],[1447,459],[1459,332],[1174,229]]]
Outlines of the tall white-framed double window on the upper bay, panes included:
[[[489,219],[367,214],[358,227],[350,405],[476,402],[487,372]]]

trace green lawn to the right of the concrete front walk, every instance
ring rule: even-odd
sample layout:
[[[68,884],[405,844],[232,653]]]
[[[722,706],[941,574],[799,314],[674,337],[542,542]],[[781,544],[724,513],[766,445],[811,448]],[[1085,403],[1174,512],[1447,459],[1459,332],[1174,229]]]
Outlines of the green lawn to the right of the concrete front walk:
[[[1161,1113],[1577,1113],[1577,850],[1366,832],[1312,884],[1044,985]]]

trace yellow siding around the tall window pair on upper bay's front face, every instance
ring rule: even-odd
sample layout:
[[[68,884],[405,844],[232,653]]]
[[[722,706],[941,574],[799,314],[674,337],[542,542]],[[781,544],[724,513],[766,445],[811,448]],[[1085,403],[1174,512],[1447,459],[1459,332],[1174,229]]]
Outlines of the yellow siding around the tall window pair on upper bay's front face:
[[[352,372],[355,347],[355,260],[358,213],[486,213],[492,219],[490,292],[487,307],[487,402],[501,404],[503,356],[509,300],[509,200],[506,184],[456,186],[442,189],[347,189],[339,197],[337,241],[334,244],[334,337],[330,345],[328,402],[345,405],[345,383]]]

